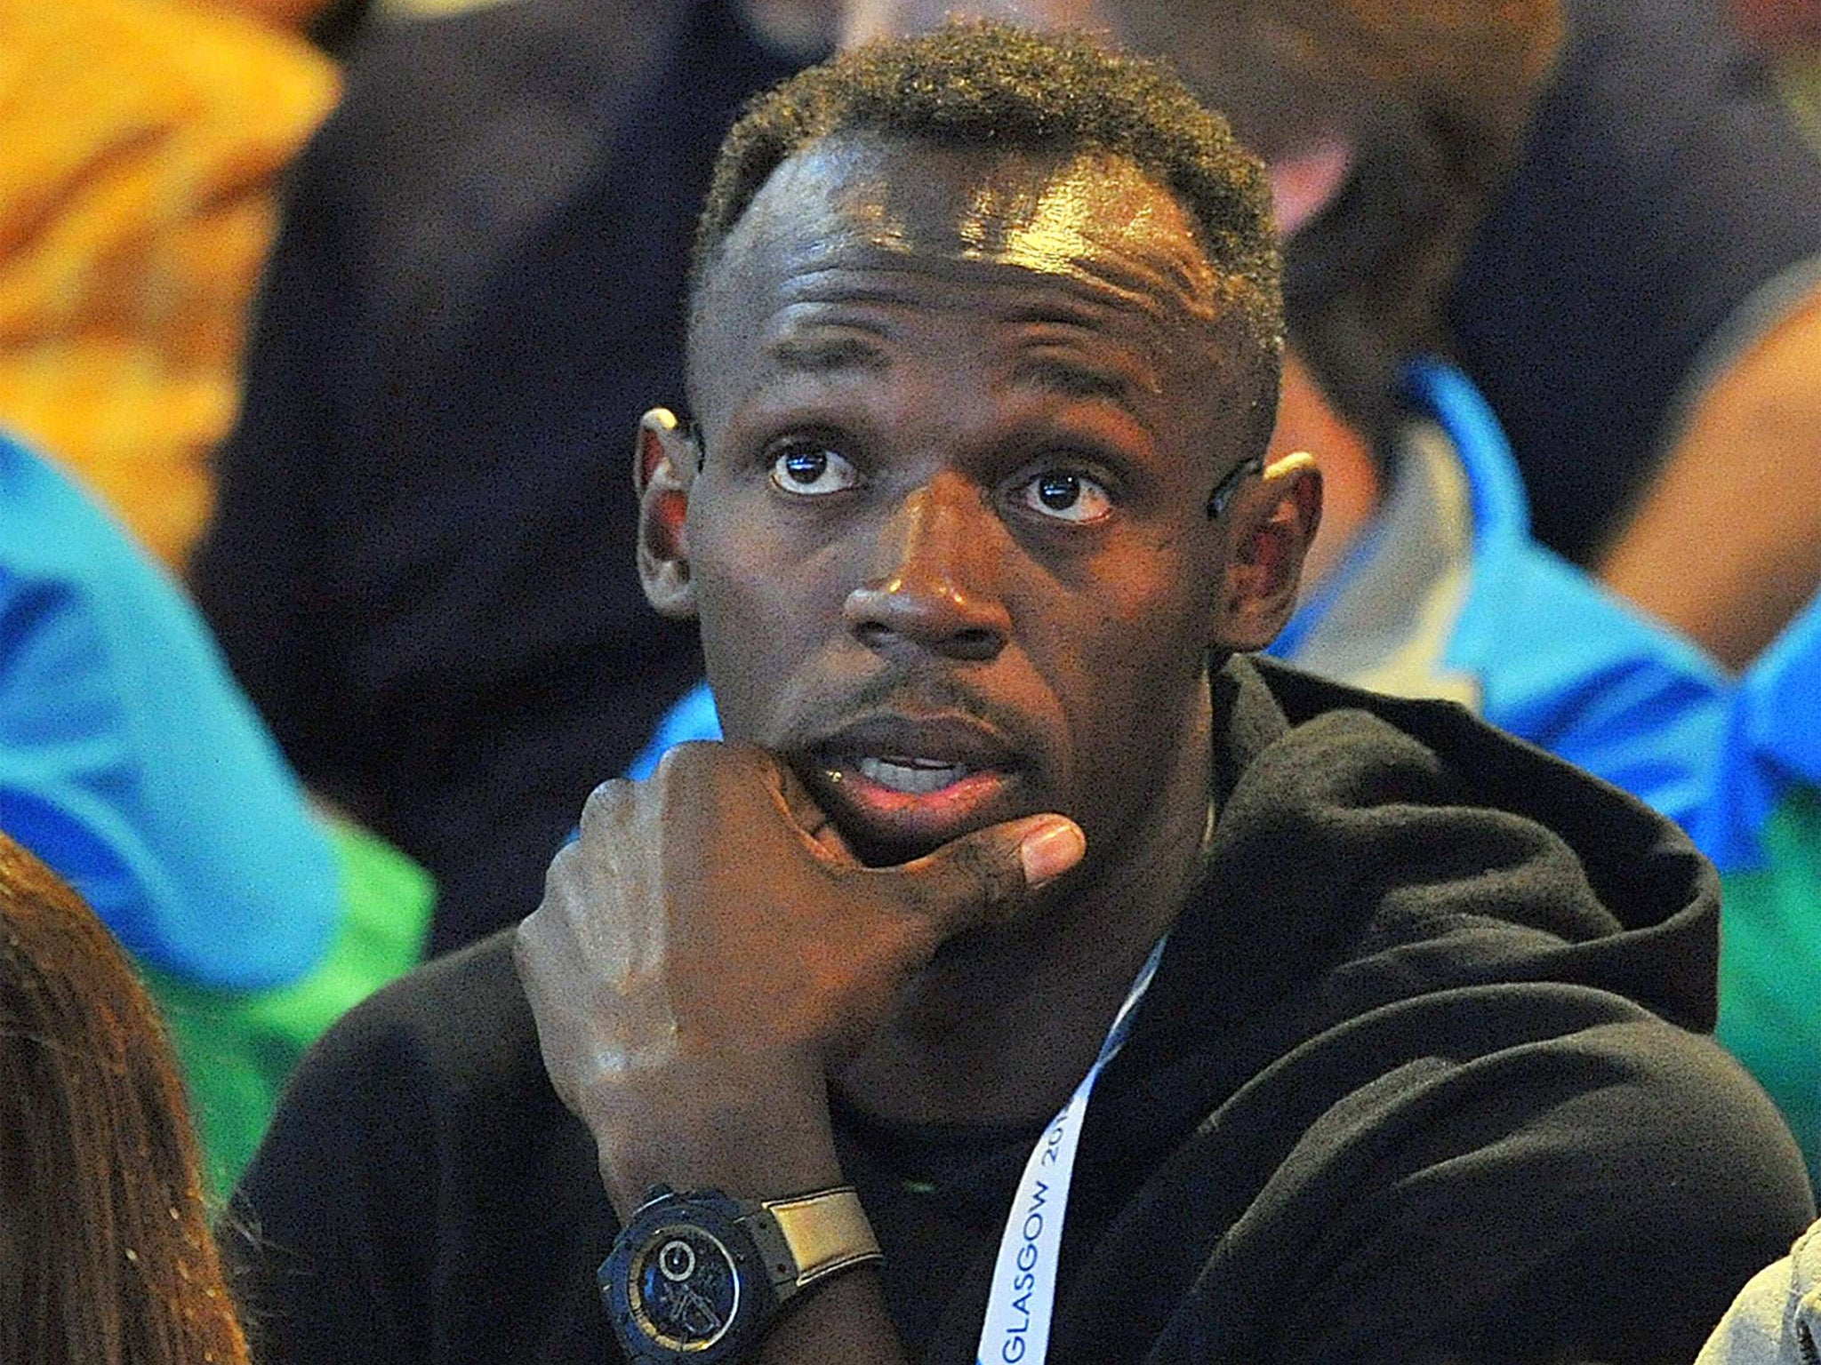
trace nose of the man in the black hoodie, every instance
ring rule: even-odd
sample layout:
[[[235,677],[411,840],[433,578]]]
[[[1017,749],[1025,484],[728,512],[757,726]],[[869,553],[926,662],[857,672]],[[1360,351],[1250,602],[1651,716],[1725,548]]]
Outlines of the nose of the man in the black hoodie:
[[[996,531],[998,517],[971,482],[936,475],[881,528],[867,581],[847,595],[847,628],[880,652],[996,659],[1012,624],[998,593]]]

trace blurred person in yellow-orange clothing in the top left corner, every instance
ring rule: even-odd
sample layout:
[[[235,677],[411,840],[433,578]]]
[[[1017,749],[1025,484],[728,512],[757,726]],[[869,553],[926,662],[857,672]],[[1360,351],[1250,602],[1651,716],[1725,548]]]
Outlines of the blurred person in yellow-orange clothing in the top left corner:
[[[0,0],[0,420],[180,566],[335,69],[226,2]]]

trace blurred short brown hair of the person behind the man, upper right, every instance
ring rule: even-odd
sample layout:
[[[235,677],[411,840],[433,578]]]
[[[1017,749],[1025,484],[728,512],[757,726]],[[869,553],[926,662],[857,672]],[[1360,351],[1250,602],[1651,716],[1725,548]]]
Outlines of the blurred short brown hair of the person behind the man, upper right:
[[[1562,36],[1559,0],[1122,0],[1266,160],[1338,131],[1355,171],[1286,248],[1289,337],[1349,419],[1384,428],[1397,368],[1446,349],[1453,273],[1515,162]]]

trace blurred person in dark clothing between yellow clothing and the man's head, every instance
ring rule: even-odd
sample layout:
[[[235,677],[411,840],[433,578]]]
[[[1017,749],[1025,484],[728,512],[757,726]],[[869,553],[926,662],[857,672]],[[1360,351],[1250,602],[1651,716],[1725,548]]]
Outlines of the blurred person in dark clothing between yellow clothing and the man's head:
[[[195,584],[304,779],[435,875],[433,950],[535,906],[701,670],[628,571],[623,433],[681,397],[719,136],[823,11],[370,22],[297,167]]]

